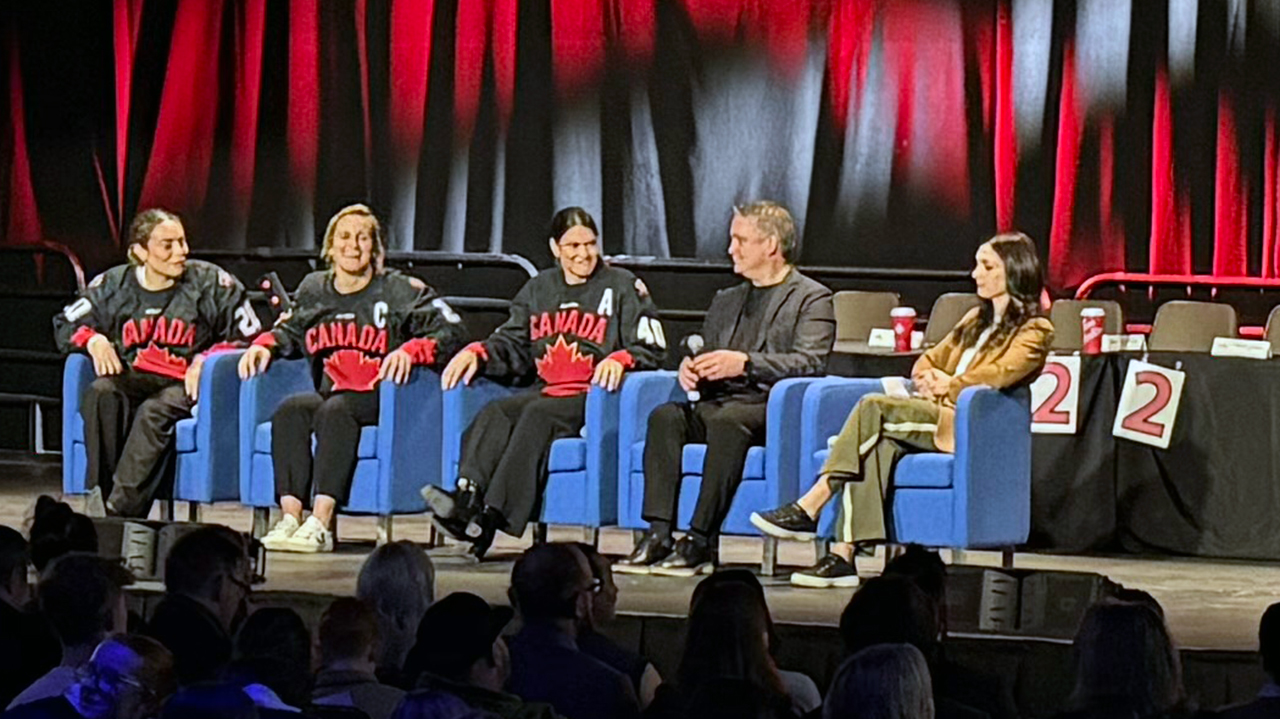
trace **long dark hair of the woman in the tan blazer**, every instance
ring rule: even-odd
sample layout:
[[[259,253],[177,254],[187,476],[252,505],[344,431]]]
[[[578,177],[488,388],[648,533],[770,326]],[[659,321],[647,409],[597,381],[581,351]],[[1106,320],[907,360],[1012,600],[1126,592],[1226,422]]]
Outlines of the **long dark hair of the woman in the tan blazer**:
[[[1009,335],[1041,311],[1041,293],[1044,290],[1044,273],[1032,238],[1020,232],[1000,233],[987,241],[991,249],[1005,264],[1005,285],[1009,288],[1009,307],[1005,316],[991,333],[992,344],[1004,342]],[[952,330],[952,338],[961,347],[977,344],[978,336],[991,326],[996,308],[989,299],[982,301],[982,308],[975,320],[960,322]]]

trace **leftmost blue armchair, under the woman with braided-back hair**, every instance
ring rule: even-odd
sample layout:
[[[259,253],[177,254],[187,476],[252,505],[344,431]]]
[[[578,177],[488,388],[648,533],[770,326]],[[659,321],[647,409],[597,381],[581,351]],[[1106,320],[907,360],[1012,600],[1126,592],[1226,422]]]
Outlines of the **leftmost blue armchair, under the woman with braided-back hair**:
[[[200,375],[200,403],[192,417],[174,427],[175,471],[173,499],[198,505],[239,498],[239,377],[242,352],[220,352],[205,360]],[[84,354],[67,358],[63,372],[63,491],[84,494],[87,455],[81,400],[95,379],[93,361]],[[172,505],[166,507],[172,513]]]

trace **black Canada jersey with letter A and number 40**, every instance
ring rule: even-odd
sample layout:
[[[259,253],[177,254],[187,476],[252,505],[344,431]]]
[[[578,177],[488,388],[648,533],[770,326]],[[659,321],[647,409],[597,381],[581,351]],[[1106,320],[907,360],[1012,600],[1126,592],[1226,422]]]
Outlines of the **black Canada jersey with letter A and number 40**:
[[[600,262],[582,284],[559,267],[520,288],[511,316],[484,342],[467,345],[490,377],[538,375],[543,394],[572,397],[591,385],[595,366],[613,358],[652,370],[667,352],[658,308],[634,274]]]

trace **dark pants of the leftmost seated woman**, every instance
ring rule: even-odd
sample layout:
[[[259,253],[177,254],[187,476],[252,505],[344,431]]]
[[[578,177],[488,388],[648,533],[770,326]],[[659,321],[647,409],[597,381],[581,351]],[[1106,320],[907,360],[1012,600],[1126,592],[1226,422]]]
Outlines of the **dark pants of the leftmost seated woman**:
[[[173,480],[173,427],[191,417],[182,380],[129,370],[97,377],[81,415],[86,486],[101,487],[114,513],[146,517],[156,491]]]

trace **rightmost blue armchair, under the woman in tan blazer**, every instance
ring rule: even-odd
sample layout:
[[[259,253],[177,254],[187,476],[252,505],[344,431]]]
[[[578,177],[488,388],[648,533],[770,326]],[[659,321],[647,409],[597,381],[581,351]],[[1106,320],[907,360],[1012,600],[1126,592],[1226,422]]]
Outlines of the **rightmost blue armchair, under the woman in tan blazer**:
[[[828,455],[827,441],[878,380],[824,380],[805,397],[801,435],[812,485]],[[1030,533],[1030,394],[970,386],[956,406],[956,452],[909,454],[893,471],[890,541],[954,549],[1012,546]],[[835,503],[819,533],[831,536]]]

